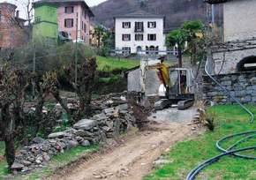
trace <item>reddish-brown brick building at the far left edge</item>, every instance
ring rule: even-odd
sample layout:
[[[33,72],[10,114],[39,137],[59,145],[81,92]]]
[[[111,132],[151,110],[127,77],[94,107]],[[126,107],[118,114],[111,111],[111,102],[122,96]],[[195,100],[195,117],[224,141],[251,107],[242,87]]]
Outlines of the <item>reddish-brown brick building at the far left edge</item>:
[[[0,3],[0,49],[18,49],[24,43],[25,19],[19,18],[17,6],[7,2]]]

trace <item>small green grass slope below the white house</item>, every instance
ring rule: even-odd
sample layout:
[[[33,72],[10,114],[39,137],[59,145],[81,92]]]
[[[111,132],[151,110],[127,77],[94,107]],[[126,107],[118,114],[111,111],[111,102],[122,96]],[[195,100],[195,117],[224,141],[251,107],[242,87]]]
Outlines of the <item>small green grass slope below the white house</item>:
[[[139,60],[125,59],[117,57],[103,57],[97,56],[97,70],[99,71],[113,71],[115,69],[130,69],[139,65]]]

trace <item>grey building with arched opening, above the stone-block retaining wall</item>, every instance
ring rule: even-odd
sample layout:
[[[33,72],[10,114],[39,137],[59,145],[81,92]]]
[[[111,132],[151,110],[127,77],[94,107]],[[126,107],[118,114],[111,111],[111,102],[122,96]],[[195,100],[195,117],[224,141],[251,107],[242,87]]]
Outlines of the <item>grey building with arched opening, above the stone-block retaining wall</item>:
[[[210,47],[212,74],[256,70],[256,2],[254,0],[208,0],[223,3],[224,41]]]

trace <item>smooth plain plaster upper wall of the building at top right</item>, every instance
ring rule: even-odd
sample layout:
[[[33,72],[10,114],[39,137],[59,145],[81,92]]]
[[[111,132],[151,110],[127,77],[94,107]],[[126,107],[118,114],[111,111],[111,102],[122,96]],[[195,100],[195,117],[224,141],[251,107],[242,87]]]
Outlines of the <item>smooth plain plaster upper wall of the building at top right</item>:
[[[256,37],[255,0],[232,0],[223,4],[224,40],[245,40]]]

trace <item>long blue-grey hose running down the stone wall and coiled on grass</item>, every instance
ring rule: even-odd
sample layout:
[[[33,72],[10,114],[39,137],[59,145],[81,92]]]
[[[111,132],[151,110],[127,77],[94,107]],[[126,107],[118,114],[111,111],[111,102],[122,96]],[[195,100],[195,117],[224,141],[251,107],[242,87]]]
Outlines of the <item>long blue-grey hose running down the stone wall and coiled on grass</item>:
[[[245,111],[247,113],[249,113],[251,116],[252,116],[252,120],[251,120],[251,123],[254,122],[254,116],[252,114],[252,112],[250,112],[248,109],[245,108],[245,106],[243,106],[243,104],[241,104],[239,101],[237,101],[237,99],[232,95],[230,94],[230,92],[224,87],[222,86],[213,76],[210,75],[210,73],[207,71],[208,70],[208,59],[207,59],[207,63],[206,63],[206,66],[205,66],[205,71],[207,72],[207,75],[213,80],[215,81],[215,83],[218,85],[218,86],[221,86],[222,89],[230,95],[230,97],[237,102],[237,104],[239,104],[243,109],[245,109]],[[235,136],[241,136],[241,135],[245,135],[245,134],[248,134],[247,137],[243,138],[243,139],[240,139],[238,140],[235,144],[233,144],[232,146],[230,146],[229,148],[227,149],[224,149],[220,146],[220,143],[224,140],[224,139],[230,139],[232,137],[235,137]],[[240,133],[236,133],[236,134],[232,134],[230,136],[226,136],[222,139],[219,139],[217,142],[216,142],[216,146],[219,150],[222,151],[222,154],[219,154],[219,155],[216,155],[215,157],[212,157],[211,159],[207,160],[207,161],[204,161],[203,163],[201,163],[199,166],[197,166],[195,169],[192,169],[192,171],[188,174],[188,176],[186,177],[186,180],[192,180],[194,179],[194,177],[199,174],[200,170],[205,168],[208,164],[214,162],[214,161],[218,161],[220,157],[224,156],[224,155],[227,155],[227,154],[232,154],[232,155],[235,155],[237,157],[241,157],[241,158],[245,158],[245,159],[256,159],[256,157],[252,157],[252,156],[246,156],[246,155],[243,155],[243,154],[237,154],[237,152],[241,152],[241,151],[246,151],[246,150],[250,150],[250,149],[255,149],[256,146],[248,146],[248,147],[245,147],[245,148],[240,148],[240,149],[236,149],[236,150],[231,150],[234,146],[237,146],[240,142],[242,141],[245,141],[246,139],[251,139],[252,137],[256,137],[256,131],[245,131],[245,132],[240,132]]]

